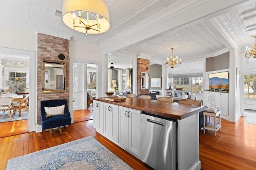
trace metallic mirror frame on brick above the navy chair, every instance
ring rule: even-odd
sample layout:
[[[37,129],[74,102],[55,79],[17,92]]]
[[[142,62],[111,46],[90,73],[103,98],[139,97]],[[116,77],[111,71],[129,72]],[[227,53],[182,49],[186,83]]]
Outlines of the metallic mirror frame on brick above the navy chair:
[[[60,64],[63,66],[63,89],[62,90],[54,90],[54,89],[45,89],[45,70],[46,66],[45,64]],[[65,92],[65,87],[66,87],[66,63],[54,63],[50,61],[43,61],[42,64],[42,92],[43,93],[56,93],[56,92]]]

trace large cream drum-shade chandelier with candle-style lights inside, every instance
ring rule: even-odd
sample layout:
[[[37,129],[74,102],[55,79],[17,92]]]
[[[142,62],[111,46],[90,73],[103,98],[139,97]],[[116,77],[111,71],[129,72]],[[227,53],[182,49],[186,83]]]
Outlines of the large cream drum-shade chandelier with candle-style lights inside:
[[[63,22],[87,34],[100,34],[110,27],[108,6],[103,0],[63,0]]]

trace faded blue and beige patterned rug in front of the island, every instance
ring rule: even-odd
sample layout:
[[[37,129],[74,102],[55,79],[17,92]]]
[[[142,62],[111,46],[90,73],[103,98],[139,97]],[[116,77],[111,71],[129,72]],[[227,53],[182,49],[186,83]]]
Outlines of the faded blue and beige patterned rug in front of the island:
[[[89,136],[8,160],[6,170],[130,170],[124,161]]]

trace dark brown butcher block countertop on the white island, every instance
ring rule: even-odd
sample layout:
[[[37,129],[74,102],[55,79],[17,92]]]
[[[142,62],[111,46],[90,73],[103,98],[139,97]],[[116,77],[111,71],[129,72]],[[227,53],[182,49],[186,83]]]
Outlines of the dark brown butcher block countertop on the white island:
[[[198,112],[204,111],[207,108],[206,106],[178,104],[177,102],[162,102],[158,100],[143,100],[139,98],[126,98],[125,101],[118,102],[111,102],[104,100],[103,98],[93,98],[93,100],[137,109],[172,119],[184,119]]]

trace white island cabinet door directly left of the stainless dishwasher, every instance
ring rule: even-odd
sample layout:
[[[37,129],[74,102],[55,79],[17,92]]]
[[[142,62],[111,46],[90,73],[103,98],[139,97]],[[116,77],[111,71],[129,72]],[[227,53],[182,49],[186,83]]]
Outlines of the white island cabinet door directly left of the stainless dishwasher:
[[[129,150],[140,156],[140,111],[129,109]]]

